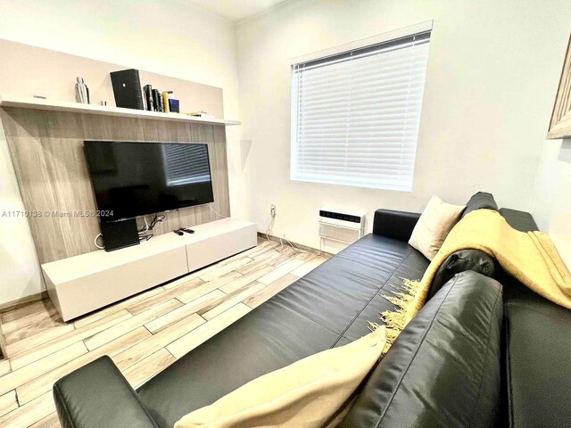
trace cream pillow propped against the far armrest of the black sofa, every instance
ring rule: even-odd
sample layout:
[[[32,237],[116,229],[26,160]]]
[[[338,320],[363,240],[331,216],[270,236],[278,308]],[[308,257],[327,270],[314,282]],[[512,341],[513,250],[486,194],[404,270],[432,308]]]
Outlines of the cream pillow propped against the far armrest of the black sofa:
[[[426,259],[434,259],[465,208],[462,205],[443,202],[434,195],[418,218],[417,226],[410,235],[410,245],[422,252]]]

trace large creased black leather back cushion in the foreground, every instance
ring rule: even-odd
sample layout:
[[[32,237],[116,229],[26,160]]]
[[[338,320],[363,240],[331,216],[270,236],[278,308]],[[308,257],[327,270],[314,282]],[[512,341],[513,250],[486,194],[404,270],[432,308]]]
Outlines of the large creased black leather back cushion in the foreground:
[[[402,331],[340,428],[497,426],[501,284],[464,272]]]

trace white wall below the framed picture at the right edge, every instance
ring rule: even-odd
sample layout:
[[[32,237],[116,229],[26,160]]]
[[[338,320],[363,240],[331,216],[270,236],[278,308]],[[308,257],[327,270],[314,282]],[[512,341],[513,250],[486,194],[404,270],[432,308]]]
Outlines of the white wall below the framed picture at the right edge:
[[[571,270],[571,139],[543,143],[532,214]]]

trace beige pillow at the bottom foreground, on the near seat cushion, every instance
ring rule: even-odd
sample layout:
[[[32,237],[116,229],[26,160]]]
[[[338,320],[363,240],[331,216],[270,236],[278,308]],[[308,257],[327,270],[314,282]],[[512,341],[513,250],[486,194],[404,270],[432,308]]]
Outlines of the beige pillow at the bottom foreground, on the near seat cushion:
[[[359,340],[303,358],[254,379],[175,428],[321,428],[340,413],[385,348],[385,326]]]

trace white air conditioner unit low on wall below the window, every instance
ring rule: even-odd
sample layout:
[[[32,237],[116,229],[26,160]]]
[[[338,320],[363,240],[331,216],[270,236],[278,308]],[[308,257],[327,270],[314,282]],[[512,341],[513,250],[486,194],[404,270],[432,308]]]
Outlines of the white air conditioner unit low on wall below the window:
[[[354,243],[365,235],[365,214],[348,210],[319,210],[319,236],[340,243]]]

